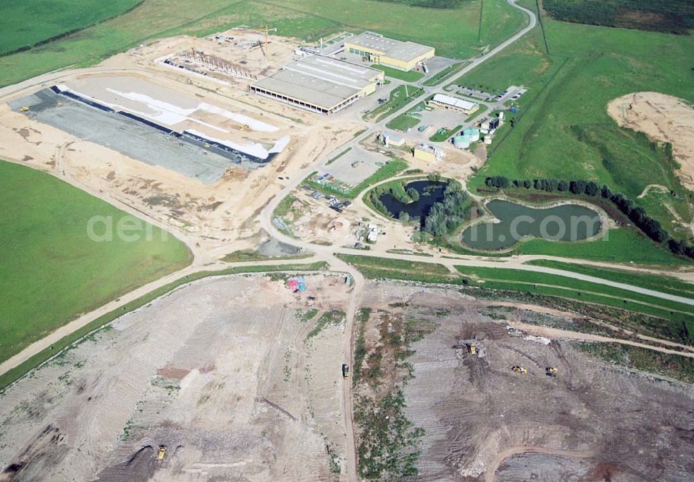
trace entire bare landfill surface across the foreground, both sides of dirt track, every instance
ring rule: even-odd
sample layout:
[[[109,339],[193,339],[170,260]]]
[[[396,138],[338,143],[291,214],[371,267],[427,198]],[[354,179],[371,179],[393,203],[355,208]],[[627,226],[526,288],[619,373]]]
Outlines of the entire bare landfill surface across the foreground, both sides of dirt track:
[[[596,361],[530,324],[573,315],[452,289],[365,288],[351,372],[342,276],[214,277],[120,317],[2,395],[3,476],[344,480],[350,385],[362,478],[694,471],[691,387]],[[389,457],[389,472],[373,463]]]

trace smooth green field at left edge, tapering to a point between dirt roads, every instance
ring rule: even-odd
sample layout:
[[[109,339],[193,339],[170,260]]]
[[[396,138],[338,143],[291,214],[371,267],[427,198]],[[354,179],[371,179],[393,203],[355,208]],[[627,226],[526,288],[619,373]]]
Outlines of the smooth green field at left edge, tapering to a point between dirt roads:
[[[0,205],[0,360],[191,259],[173,235],[162,240],[159,228],[28,167],[0,162]],[[151,240],[142,232],[127,242],[114,228],[112,241],[92,241],[87,223],[96,215],[149,226]]]

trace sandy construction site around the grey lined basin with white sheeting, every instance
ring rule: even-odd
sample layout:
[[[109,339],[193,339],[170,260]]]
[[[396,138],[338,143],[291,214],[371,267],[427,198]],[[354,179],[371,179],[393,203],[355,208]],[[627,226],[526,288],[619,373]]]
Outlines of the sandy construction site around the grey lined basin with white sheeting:
[[[249,92],[296,58],[294,40],[263,42],[244,29],[155,40],[5,88],[0,156],[174,228],[212,256],[253,247],[254,213],[359,129],[356,116],[328,122]]]

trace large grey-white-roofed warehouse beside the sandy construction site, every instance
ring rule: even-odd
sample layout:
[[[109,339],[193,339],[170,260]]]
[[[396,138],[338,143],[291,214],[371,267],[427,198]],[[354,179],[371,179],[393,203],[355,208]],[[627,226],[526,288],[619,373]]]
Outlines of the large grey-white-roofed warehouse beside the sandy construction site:
[[[377,69],[314,55],[294,60],[250,89],[292,106],[332,114],[375,92],[383,77]]]

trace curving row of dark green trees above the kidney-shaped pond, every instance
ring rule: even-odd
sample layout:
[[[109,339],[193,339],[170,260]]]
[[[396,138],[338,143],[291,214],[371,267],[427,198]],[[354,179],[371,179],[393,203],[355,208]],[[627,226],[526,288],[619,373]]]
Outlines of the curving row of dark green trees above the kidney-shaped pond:
[[[591,197],[602,197],[611,201],[622,213],[624,213],[645,235],[655,242],[667,242],[668,249],[673,254],[686,255],[694,258],[694,245],[684,241],[674,240],[670,233],[663,229],[660,223],[648,216],[641,206],[637,206],[633,199],[621,192],[612,192],[608,185],[598,185],[593,181],[559,181],[557,179],[514,179],[509,181],[505,176],[490,176],[484,183],[489,188],[507,189],[509,187],[543,190],[545,192],[571,192],[572,194]]]

